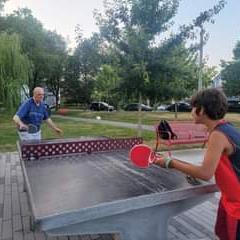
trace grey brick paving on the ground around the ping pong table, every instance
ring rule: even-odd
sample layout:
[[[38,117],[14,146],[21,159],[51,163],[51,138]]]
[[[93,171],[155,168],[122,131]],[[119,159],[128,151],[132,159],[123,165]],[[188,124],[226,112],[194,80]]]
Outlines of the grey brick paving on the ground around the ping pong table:
[[[171,219],[170,240],[211,240],[219,194]],[[112,235],[47,237],[30,230],[29,205],[16,152],[0,154],[0,239],[2,240],[114,240]],[[120,239],[118,236],[115,239]],[[148,240],[148,239],[146,239]],[[151,239],[149,239],[151,240]]]

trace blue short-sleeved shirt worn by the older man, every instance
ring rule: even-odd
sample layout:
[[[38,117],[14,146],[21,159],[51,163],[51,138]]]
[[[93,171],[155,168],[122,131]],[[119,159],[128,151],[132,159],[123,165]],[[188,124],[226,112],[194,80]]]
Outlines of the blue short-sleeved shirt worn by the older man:
[[[34,124],[40,129],[43,120],[49,118],[48,111],[43,102],[37,105],[33,98],[29,98],[18,109],[16,115],[25,124]]]

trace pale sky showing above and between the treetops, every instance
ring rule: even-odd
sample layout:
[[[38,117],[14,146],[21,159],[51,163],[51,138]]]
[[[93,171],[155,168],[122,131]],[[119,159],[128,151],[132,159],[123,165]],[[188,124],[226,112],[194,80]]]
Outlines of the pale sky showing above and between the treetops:
[[[232,50],[240,40],[240,0],[226,0],[225,8],[215,16],[215,23],[205,24],[210,34],[204,46],[204,57],[210,66],[219,66],[221,60],[230,61]],[[175,29],[192,22],[200,12],[213,7],[218,0],[181,0],[178,13],[174,18]],[[83,36],[89,37],[98,30],[93,10],[103,12],[103,0],[8,0],[5,13],[19,7],[32,10],[33,16],[48,30],[56,30],[70,47],[75,46],[75,27],[80,25]]]

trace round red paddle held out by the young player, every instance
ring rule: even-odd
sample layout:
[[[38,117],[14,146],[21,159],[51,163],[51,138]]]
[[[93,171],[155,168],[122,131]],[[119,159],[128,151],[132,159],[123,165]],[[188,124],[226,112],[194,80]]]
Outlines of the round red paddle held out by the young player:
[[[149,146],[138,144],[130,150],[129,158],[135,166],[148,168],[157,159],[157,155]]]

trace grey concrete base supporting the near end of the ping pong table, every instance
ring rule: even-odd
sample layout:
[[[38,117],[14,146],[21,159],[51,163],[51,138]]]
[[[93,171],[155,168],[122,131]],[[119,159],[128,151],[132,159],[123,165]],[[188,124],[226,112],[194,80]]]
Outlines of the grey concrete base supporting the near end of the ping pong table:
[[[212,194],[200,195],[72,225],[64,224],[57,228],[54,228],[52,222],[51,226],[45,225],[44,228],[48,228],[45,231],[53,236],[119,233],[121,240],[166,240],[168,221],[171,217],[202,203],[211,196]]]

